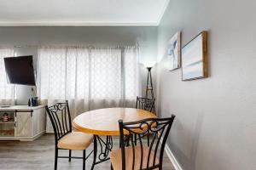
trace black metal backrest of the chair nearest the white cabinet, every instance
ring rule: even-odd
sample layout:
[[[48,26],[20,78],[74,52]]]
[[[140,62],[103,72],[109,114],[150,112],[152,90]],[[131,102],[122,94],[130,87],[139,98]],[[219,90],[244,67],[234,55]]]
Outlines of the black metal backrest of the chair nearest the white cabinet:
[[[45,110],[49,115],[50,122],[55,132],[55,142],[72,132],[71,117],[68,107],[68,101],[56,103],[52,106],[45,106]]]

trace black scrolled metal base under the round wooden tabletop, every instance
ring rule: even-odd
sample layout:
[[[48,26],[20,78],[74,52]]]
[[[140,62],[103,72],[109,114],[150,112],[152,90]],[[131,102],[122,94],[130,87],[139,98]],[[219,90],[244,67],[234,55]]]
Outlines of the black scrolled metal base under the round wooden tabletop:
[[[106,138],[106,140],[102,139],[98,135],[94,135],[94,154],[93,154],[92,166],[90,168],[91,170],[93,170],[96,164],[109,160],[108,154],[113,148],[113,139],[111,136],[106,136],[103,138]],[[99,153],[98,153],[98,146],[100,146]]]

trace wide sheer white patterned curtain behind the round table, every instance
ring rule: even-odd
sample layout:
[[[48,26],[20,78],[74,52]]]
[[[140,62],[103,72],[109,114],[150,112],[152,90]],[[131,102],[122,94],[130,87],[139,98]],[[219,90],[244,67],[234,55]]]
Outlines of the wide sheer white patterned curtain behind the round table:
[[[134,107],[138,48],[39,48],[38,92],[46,105],[67,99],[72,117],[105,107]],[[51,125],[47,123],[47,131]]]

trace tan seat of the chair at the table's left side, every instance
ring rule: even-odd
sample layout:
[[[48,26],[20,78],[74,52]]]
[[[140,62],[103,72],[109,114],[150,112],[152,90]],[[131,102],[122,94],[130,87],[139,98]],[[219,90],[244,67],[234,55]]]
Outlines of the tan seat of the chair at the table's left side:
[[[85,150],[91,144],[93,135],[88,133],[67,133],[58,141],[58,148],[67,150]]]

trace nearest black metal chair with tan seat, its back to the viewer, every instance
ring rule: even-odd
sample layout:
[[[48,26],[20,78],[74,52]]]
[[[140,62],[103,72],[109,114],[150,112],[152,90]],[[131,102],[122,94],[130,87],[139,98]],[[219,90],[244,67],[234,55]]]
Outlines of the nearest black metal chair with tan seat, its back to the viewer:
[[[120,149],[113,150],[110,154],[112,168],[114,170],[161,170],[166,139],[174,117],[172,115],[168,118],[148,118],[138,122],[119,120]],[[143,144],[145,133],[152,134],[149,146]],[[138,136],[139,144],[134,144],[133,135]],[[125,147],[129,142],[127,139],[131,140],[131,146]]]

